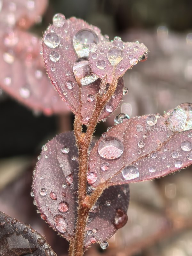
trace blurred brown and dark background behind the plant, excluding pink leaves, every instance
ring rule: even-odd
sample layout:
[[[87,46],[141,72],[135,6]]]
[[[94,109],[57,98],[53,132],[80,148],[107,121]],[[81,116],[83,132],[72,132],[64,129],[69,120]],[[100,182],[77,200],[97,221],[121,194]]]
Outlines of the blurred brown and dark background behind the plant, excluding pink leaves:
[[[121,36],[123,41],[146,44],[148,60],[125,74],[129,93],[116,114],[163,114],[192,101],[191,10],[190,0],[50,0],[42,22],[30,31],[42,36],[52,16],[61,12],[66,18],[76,16],[100,27],[110,39]],[[41,220],[30,191],[42,145],[57,133],[71,130],[74,117],[71,112],[44,116],[2,89],[0,95],[0,210],[44,234],[58,256],[67,255],[67,242]],[[97,136],[114,124],[116,114],[98,125]],[[107,250],[95,245],[87,255],[191,256],[191,196],[190,168],[132,184],[128,224],[109,240]]]

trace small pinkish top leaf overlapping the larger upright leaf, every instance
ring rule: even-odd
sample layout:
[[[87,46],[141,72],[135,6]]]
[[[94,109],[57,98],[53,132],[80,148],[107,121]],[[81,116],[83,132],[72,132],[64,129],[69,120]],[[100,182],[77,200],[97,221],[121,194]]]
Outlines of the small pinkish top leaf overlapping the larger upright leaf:
[[[119,47],[117,47],[119,46]],[[147,47],[144,44],[124,43],[120,37],[105,44],[98,44],[95,52],[89,53],[89,62],[92,71],[100,78],[107,76],[108,83],[112,83],[114,77],[123,76],[127,69],[132,68],[139,61],[147,60]],[[98,55],[97,59],[94,58]],[[106,65],[106,68],[103,68]]]

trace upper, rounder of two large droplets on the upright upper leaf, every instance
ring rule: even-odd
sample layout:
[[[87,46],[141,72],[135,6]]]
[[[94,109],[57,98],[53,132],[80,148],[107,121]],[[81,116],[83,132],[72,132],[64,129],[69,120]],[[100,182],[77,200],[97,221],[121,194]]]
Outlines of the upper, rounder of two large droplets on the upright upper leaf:
[[[73,46],[79,57],[88,57],[89,45],[98,44],[98,42],[97,34],[89,28],[79,30],[73,38]]]

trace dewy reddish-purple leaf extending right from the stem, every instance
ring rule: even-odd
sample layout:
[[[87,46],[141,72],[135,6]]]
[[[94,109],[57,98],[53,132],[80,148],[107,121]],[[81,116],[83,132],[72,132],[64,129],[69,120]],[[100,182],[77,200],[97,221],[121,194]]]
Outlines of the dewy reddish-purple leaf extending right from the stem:
[[[191,110],[187,111],[189,115]],[[159,114],[133,117],[104,133],[105,138],[100,138],[90,154],[89,172],[96,178],[88,179],[89,183],[97,187],[103,182],[117,185],[148,180],[192,164],[191,130],[173,132],[166,120],[167,115]],[[184,141],[188,141],[186,146]]]

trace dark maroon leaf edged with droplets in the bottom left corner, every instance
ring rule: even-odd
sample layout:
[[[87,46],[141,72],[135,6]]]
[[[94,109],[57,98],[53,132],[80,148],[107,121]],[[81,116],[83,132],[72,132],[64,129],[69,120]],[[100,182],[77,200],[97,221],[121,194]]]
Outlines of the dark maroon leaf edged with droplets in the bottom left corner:
[[[0,255],[56,256],[56,253],[34,229],[0,212]]]

